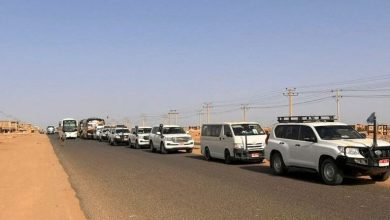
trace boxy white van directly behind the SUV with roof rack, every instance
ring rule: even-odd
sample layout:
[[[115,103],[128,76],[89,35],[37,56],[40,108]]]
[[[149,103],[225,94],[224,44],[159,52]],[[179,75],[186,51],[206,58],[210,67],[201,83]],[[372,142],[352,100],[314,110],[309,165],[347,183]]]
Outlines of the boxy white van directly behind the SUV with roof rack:
[[[224,159],[260,161],[264,159],[266,133],[256,122],[226,122],[204,124],[201,132],[201,152],[206,160]]]

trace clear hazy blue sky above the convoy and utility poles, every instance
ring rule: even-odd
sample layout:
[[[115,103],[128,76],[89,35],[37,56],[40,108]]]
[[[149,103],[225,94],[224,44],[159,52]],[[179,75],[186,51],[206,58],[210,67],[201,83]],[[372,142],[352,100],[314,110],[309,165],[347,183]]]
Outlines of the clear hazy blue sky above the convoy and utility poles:
[[[390,124],[390,1],[0,1],[0,119]],[[165,117],[165,118],[164,118]],[[205,120],[203,118],[203,120]],[[173,119],[172,119],[173,122]]]

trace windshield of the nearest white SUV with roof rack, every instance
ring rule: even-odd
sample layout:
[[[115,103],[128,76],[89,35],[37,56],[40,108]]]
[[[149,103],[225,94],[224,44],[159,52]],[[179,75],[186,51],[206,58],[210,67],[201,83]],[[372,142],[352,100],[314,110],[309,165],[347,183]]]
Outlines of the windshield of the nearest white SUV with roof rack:
[[[317,126],[315,127],[318,135],[323,140],[340,140],[340,139],[362,139],[363,136],[359,134],[351,126],[337,125],[337,126]]]

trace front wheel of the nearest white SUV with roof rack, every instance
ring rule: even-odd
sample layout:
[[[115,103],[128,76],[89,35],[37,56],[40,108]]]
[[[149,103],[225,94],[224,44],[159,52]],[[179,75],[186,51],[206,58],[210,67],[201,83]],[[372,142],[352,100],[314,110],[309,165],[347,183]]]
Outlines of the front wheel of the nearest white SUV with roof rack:
[[[343,182],[342,172],[332,159],[325,159],[321,163],[321,177],[327,185],[339,185]]]

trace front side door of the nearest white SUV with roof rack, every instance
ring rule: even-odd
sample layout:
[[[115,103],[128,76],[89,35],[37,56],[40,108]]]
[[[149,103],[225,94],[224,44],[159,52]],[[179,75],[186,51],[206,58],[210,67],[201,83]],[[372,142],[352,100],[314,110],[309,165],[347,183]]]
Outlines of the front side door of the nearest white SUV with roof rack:
[[[313,168],[317,167],[315,161],[317,138],[313,129],[306,125],[300,126],[298,141],[291,148],[291,155],[298,166]]]

